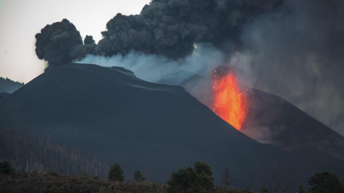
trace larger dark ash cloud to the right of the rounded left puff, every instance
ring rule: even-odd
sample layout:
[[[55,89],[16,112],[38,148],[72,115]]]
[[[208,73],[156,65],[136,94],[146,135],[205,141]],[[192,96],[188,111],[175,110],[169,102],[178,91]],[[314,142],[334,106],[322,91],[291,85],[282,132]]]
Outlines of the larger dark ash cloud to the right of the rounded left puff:
[[[152,0],[139,15],[117,14],[102,32],[101,55],[126,54],[130,49],[181,58],[195,43],[210,42],[231,49],[240,27],[281,0]]]

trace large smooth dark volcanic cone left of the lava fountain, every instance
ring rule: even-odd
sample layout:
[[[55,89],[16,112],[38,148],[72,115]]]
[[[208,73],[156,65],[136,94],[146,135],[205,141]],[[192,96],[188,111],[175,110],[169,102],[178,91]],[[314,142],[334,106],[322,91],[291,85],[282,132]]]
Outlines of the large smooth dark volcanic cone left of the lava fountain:
[[[127,179],[139,169],[148,180],[166,181],[173,170],[197,160],[211,164],[216,184],[223,183],[228,167],[231,185],[246,188],[253,175],[255,190],[275,173],[292,192],[315,172],[344,174],[343,161],[316,149],[303,156],[302,149],[258,143],[182,87],[97,65],[66,64],[43,73],[0,101],[0,124],[116,161]]]

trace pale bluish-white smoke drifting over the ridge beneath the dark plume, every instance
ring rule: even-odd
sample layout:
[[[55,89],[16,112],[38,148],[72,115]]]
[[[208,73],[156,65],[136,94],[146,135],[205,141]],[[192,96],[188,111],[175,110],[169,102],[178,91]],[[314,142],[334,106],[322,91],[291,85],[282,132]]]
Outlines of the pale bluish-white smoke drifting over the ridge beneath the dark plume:
[[[191,55],[178,60],[131,50],[126,55],[117,54],[111,57],[87,55],[77,63],[124,67],[133,71],[142,80],[157,82],[180,70],[209,77],[210,72],[216,66],[222,65],[225,58],[225,54],[221,50],[209,43],[201,43],[195,46]],[[182,81],[188,75],[178,77],[178,81]]]

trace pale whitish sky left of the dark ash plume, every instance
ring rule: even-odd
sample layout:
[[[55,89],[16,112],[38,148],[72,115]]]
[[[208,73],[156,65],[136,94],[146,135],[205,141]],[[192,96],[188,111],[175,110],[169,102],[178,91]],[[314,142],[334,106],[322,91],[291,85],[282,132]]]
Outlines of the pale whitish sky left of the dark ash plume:
[[[46,64],[35,54],[35,34],[66,18],[96,42],[117,13],[139,14],[150,0],[0,0],[0,77],[27,83]]]

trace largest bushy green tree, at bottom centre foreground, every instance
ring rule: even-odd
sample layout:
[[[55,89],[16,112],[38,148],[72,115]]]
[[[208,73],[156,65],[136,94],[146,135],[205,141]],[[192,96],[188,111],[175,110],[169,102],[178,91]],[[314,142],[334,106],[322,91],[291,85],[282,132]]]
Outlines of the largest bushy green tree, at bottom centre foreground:
[[[197,161],[194,168],[178,169],[172,172],[168,192],[211,192],[214,188],[213,172],[207,162]]]

